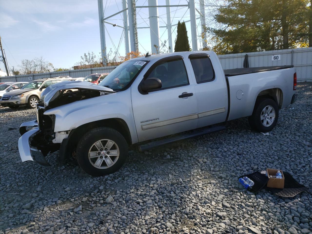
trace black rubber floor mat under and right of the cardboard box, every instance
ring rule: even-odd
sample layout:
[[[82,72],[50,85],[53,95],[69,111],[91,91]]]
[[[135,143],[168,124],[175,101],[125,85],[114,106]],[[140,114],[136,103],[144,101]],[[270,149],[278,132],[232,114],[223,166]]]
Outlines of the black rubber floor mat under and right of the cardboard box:
[[[270,192],[281,196],[281,197],[294,197],[298,193],[309,190],[309,188],[295,181],[295,179],[288,172],[283,172],[285,183],[284,188],[269,188],[266,187]]]

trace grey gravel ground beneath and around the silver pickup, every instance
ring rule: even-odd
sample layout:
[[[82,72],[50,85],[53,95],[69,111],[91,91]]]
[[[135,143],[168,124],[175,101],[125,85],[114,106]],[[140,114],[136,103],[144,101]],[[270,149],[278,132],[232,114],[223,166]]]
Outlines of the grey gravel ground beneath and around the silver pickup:
[[[280,168],[312,188],[312,83],[269,135],[246,118],[227,130],[149,152],[93,178],[75,162],[22,163],[18,127],[35,110],[0,109],[0,233],[312,233],[312,190],[282,198],[242,189],[238,176]],[[2,231],[1,231],[2,230]]]

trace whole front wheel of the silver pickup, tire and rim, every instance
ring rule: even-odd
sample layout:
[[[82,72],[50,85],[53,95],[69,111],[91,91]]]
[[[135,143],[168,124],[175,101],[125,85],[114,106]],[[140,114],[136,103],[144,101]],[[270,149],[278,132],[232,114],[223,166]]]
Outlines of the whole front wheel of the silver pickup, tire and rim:
[[[76,148],[79,166],[89,175],[103,176],[116,172],[128,156],[128,145],[115,129],[100,127],[87,132]]]

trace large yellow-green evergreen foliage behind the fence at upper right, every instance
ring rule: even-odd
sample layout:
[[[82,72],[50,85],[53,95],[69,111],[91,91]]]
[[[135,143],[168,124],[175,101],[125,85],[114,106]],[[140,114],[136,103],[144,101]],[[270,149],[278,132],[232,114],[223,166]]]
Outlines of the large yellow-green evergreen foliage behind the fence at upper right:
[[[308,46],[308,3],[308,0],[226,0],[214,16],[217,27],[209,28],[213,50],[226,54]]]

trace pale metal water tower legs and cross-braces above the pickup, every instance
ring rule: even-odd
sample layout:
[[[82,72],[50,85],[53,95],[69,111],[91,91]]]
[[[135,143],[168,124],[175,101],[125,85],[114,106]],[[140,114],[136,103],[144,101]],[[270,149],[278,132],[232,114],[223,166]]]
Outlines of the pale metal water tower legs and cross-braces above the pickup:
[[[170,46],[170,51],[173,50],[172,43],[172,27],[176,24],[171,25],[171,11],[170,7],[188,7],[190,13],[190,20],[184,22],[190,22],[191,24],[191,39],[192,39],[192,50],[197,51],[197,25],[196,19],[200,19],[201,22],[201,33],[203,35],[202,46],[207,46],[207,38],[205,33],[205,8],[204,0],[199,1],[200,10],[195,7],[194,0],[189,0],[187,4],[170,5],[170,0],[166,0],[166,5],[158,5],[158,0],[148,0],[148,6],[136,6],[136,0],[122,0],[122,10],[115,12],[110,16],[104,16],[103,0],[98,0],[99,7],[99,23],[100,23],[100,40],[101,40],[101,51],[102,58],[106,57],[106,42],[105,42],[105,23],[113,25],[115,27],[121,27],[124,29],[124,41],[125,41],[125,53],[129,51],[138,51],[138,29],[149,28],[150,29],[150,41],[151,41],[151,51],[156,53],[156,45],[158,48],[160,46],[159,28],[166,27],[168,31],[168,45]],[[167,23],[166,26],[159,26],[159,15],[158,8],[166,7]],[[137,27],[137,8],[148,8],[149,9],[149,26],[148,27]],[[200,17],[196,18],[196,11]],[[107,20],[113,16],[123,13],[123,26],[113,24]],[[128,14],[127,14],[128,13]],[[127,17],[128,15],[128,17]],[[130,40],[129,40],[130,39]]]

